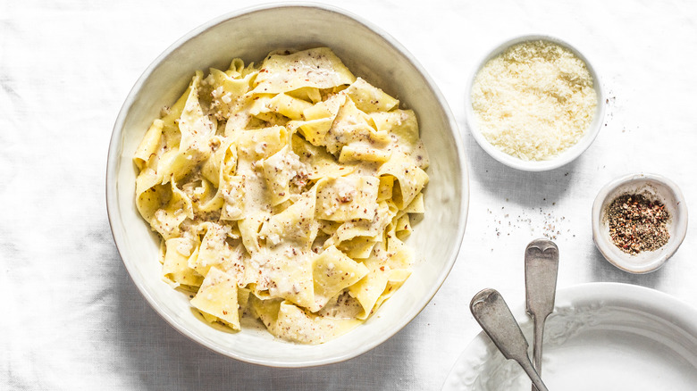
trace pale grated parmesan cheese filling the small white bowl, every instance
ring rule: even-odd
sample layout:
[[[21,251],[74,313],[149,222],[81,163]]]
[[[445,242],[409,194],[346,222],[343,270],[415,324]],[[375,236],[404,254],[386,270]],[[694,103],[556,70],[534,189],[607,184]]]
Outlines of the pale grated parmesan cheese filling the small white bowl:
[[[524,161],[548,160],[575,145],[597,105],[585,63],[548,41],[511,46],[487,62],[471,94],[483,137]]]

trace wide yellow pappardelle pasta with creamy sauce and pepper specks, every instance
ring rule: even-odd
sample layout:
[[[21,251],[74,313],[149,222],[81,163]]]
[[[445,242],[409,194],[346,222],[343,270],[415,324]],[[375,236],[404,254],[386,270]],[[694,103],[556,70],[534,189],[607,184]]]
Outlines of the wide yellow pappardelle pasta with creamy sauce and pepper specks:
[[[209,322],[320,344],[411,273],[428,182],[416,115],[329,48],[197,71],[133,160],[162,277]]]

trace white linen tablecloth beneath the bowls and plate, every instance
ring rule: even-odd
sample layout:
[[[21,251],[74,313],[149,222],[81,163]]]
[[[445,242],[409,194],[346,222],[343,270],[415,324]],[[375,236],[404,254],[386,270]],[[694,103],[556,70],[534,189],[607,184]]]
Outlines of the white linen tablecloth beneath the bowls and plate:
[[[479,331],[471,297],[495,287],[522,305],[523,250],[554,237],[558,286],[626,282],[697,305],[694,224],[661,270],[634,276],[592,243],[600,187],[656,172],[697,207],[697,4],[684,1],[327,2],[396,37],[441,87],[465,140],[470,214],[458,262],[416,320],[339,364],[279,370],[190,342],[131,283],[105,212],[113,121],[130,87],[176,39],[249,1],[0,0],[0,388],[440,389]],[[466,79],[509,37],[544,33],[577,46],[602,75],[606,121],[578,160],[514,171],[465,124]]]

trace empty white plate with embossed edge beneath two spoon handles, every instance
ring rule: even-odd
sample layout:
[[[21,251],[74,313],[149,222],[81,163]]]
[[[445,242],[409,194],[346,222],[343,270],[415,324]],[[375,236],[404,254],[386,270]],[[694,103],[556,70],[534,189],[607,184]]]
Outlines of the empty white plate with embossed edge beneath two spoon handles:
[[[692,306],[650,288],[616,283],[560,289],[556,304],[545,326],[542,359],[542,379],[550,390],[697,389]],[[514,313],[532,347],[532,321],[523,308]],[[520,366],[507,361],[483,333],[460,355],[443,386],[530,389]]]

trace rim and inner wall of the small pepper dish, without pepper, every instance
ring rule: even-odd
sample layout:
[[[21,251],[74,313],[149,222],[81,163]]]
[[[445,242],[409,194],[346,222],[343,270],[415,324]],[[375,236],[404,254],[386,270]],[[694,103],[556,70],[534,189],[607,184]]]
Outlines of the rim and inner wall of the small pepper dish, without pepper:
[[[680,216],[677,219],[676,216],[672,216],[676,220],[677,224],[675,230],[671,232],[671,237],[675,236],[675,240],[668,242],[669,245],[666,251],[656,254],[656,257],[651,260],[651,262],[646,262],[642,265],[634,265],[632,263],[626,262],[626,257],[616,256],[610,251],[609,245],[601,240],[600,236],[604,236],[604,232],[601,229],[601,215],[610,200],[609,196],[617,190],[617,188],[622,187],[626,184],[631,184],[634,182],[651,181],[658,184],[661,187],[668,189],[670,194],[676,199],[676,215]],[[608,184],[600,188],[598,196],[592,204],[592,237],[593,243],[600,251],[600,254],[611,264],[613,264],[617,269],[625,270],[629,273],[634,274],[645,274],[651,271],[659,270],[663,265],[668,262],[668,259],[676,253],[677,249],[682,245],[684,237],[687,233],[687,204],[685,204],[685,199],[680,187],[676,185],[672,180],[652,173],[634,173],[623,175],[617,179],[612,179]]]

